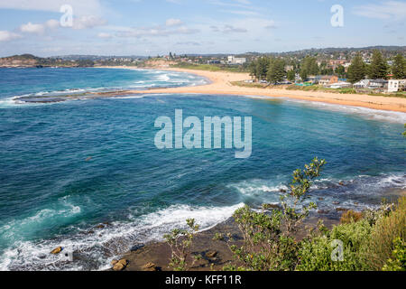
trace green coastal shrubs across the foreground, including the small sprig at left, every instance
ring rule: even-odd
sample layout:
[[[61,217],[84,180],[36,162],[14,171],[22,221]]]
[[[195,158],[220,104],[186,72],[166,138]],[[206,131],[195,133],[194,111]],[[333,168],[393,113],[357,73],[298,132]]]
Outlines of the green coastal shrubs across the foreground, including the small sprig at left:
[[[378,210],[346,210],[339,225],[328,229],[320,220],[316,227],[307,228],[304,238],[298,238],[310,210],[317,208],[309,201],[310,189],[325,164],[315,158],[303,170],[293,172],[280,205],[265,204],[261,211],[245,206],[235,211],[242,244],[235,245],[231,234],[217,233],[213,238],[225,242],[235,257],[224,270],[406,271],[406,197],[396,205],[383,201]],[[177,270],[189,269],[184,260],[197,227],[195,220],[188,220],[188,225],[189,231],[174,230],[166,237],[172,248],[170,267]],[[184,238],[179,255],[173,244],[180,236]]]

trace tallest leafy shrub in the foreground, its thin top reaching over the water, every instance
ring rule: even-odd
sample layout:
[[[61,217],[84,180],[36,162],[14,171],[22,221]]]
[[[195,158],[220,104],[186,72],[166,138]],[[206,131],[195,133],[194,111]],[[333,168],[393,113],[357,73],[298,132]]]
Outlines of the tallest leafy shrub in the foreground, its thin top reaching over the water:
[[[299,263],[299,243],[294,234],[300,224],[316,209],[309,199],[312,180],[317,178],[325,160],[313,159],[304,170],[293,172],[290,190],[281,196],[281,208],[257,212],[248,206],[236,210],[234,219],[243,235],[243,246],[230,245],[237,264],[226,270],[286,271],[294,270]],[[217,239],[220,236],[217,236]]]

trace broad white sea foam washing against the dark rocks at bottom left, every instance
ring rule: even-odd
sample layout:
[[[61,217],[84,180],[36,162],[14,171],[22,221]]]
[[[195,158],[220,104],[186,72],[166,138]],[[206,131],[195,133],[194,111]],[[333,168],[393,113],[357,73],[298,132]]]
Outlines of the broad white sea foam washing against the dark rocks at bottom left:
[[[196,219],[202,229],[208,229],[231,217],[243,205],[217,208],[174,205],[140,218],[130,215],[127,222],[115,222],[73,236],[39,242],[16,241],[0,256],[0,270],[104,270],[112,259],[134,245],[161,240],[171,229],[184,228],[186,219]],[[51,214],[42,211],[33,219],[44,215],[51,218]],[[76,252],[80,257],[66,262],[63,254],[51,255],[50,251],[59,246],[64,248],[63,252]],[[88,267],[90,263],[93,265]]]

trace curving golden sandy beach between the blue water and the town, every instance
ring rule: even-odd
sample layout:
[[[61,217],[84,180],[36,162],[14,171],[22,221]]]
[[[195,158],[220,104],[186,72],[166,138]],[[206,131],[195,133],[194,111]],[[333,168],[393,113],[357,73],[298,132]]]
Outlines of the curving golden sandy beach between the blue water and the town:
[[[113,67],[121,69],[133,69],[128,67]],[[158,69],[158,68],[152,68]],[[406,112],[406,98],[375,97],[360,94],[339,94],[318,91],[300,91],[288,89],[259,89],[245,88],[232,85],[233,81],[251,79],[248,73],[233,73],[223,71],[185,70],[175,68],[159,68],[197,74],[210,80],[210,83],[195,87],[180,87],[171,89],[153,89],[153,93],[193,93],[213,95],[244,95],[272,98],[295,98],[300,100],[317,101],[329,104],[338,104],[353,107],[367,107],[373,109]],[[132,93],[151,93],[151,90],[134,90]]]

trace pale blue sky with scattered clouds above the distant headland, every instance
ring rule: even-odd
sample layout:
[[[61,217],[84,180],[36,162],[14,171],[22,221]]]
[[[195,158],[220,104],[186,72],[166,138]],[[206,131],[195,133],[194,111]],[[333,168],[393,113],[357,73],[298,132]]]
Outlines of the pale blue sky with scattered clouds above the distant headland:
[[[0,0],[0,56],[406,45],[406,0]]]

